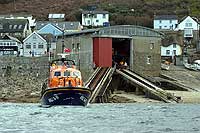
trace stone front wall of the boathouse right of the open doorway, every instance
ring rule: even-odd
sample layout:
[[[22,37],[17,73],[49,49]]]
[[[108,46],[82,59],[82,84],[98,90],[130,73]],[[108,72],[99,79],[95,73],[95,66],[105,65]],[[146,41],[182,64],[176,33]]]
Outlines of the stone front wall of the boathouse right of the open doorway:
[[[161,38],[134,37],[132,70],[142,76],[159,76],[161,70]]]

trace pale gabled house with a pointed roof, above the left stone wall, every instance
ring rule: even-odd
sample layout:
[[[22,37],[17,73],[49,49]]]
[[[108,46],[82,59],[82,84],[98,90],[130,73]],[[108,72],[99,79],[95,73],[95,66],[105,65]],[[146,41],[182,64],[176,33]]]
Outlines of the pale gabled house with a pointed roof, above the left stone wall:
[[[33,32],[23,40],[23,55],[39,57],[47,54],[47,41],[38,33]]]

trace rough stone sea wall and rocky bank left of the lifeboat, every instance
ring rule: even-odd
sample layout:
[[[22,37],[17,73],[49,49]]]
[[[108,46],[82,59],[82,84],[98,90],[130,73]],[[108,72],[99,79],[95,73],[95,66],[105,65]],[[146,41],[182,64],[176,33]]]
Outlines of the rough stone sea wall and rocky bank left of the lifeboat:
[[[38,102],[48,58],[0,57],[0,101]]]

